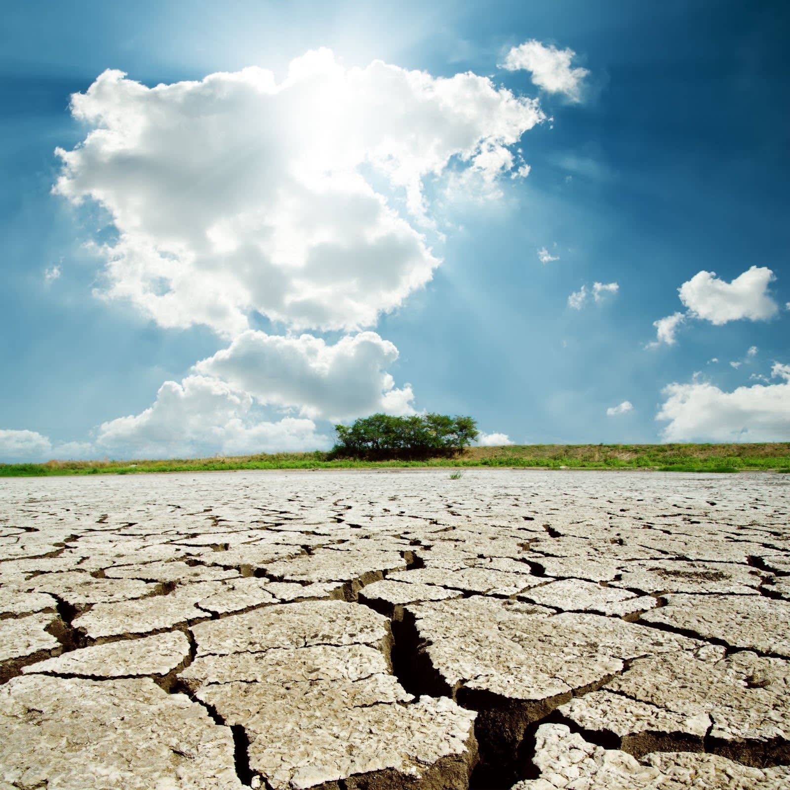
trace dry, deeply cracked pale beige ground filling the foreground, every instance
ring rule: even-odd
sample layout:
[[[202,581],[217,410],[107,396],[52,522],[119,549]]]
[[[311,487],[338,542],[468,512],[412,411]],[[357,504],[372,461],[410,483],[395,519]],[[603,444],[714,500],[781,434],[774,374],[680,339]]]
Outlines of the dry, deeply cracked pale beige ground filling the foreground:
[[[790,479],[0,482],[0,790],[790,787]]]

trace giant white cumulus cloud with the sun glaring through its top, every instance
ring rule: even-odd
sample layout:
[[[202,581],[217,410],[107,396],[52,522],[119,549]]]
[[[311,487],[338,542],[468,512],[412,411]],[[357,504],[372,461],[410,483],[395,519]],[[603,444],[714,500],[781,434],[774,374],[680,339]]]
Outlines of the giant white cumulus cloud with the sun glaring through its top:
[[[228,337],[254,311],[294,329],[374,325],[439,263],[423,180],[494,183],[544,119],[488,77],[347,69],[327,50],[280,83],[250,68],[147,88],[108,70],[72,113],[90,131],[58,149],[54,191],[96,201],[118,231],[98,293]]]

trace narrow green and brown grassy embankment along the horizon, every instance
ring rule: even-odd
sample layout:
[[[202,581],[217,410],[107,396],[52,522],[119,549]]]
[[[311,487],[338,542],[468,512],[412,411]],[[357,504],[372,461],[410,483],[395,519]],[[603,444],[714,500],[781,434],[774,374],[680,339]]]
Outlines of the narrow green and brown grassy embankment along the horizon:
[[[510,445],[470,447],[455,458],[428,461],[329,460],[329,453],[274,453],[167,461],[47,461],[0,464],[0,476],[209,472],[232,469],[321,469],[386,467],[532,467],[656,469],[661,472],[790,472],[790,442],[762,444]]]

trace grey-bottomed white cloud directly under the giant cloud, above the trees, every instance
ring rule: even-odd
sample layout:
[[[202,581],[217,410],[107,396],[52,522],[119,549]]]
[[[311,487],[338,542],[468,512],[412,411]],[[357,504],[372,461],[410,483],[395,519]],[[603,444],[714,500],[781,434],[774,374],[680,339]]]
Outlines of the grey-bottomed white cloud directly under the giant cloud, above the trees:
[[[374,412],[415,413],[411,387],[397,389],[386,372],[397,356],[397,348],[374,332],[327,345],[312,335],[250,330],[194,369],[250,393],[260,404],[298,407],[302,416],[338,421]]]

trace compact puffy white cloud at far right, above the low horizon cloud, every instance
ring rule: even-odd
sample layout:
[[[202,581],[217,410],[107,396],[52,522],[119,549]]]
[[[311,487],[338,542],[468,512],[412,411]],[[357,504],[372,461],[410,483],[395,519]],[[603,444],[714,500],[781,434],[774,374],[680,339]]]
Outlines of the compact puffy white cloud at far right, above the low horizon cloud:
[[[728,283],[715,272],[698,272],[678,289],[680,301],[695,318],[704,318],[715,325],[749,318],[766,321],[777,314],[779,306],[768,293],[768,284],[775,279],[766,267],[752,266]]]

